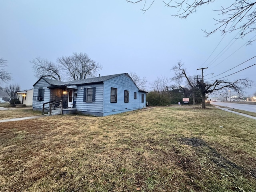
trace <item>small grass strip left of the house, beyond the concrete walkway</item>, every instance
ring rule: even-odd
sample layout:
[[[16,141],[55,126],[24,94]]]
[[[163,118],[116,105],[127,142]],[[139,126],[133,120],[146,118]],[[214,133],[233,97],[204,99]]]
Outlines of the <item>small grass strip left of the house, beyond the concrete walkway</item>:
[[[0,120],[42,115],[40,111],[33,111],[32,108],[12,108],[0,110]]]

